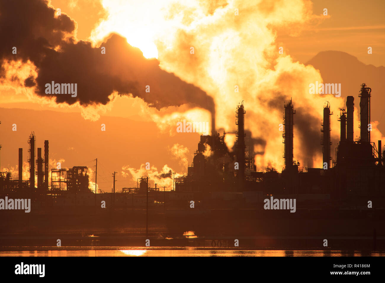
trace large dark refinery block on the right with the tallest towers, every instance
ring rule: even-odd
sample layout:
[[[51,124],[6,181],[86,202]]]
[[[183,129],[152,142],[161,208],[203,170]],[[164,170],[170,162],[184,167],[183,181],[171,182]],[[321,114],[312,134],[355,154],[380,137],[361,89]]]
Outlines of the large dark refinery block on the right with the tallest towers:
[[[330,103],[323,108],[321,122],[322,168],[300,169],[293,156],[293,138],[296,113],[292,99],[284,105],[283,159],[281,173],[266,167],[266,172],[253,169],[253,157],[245,147],[243,103],[236,109],[236,144],[232,152],[224,145],[224,135],[201,136],[194,160],[187,175],[176,181],[176,192],[238,191],[266,194],[301,194],[302,198],[345,201],[354,206],[363,196],[384,196],[385,164],[381,141],[370,141],[370,92],[365,84],[360,89],[360,139],[353,140],[354,97],[348,96],[346,109],[341,109],[340,142],[336,147],[336,159],[331,157]],[[247,137],[246,137],[247,138]],[[213,153],[204,156],[206,145]],[[221,149],[221,150],[219,150]],[[250,162],[251,160],[251,162]],[[238,169],[234,163],[238,162]],[[220,166],[218,167],[218,165]],[[236,164],[236,163],[235,163]],[[209,176],[209,178],[208,178]],[[245,194],[246,195],[246,194]],[[245,197],[246,198],[246,197]]]

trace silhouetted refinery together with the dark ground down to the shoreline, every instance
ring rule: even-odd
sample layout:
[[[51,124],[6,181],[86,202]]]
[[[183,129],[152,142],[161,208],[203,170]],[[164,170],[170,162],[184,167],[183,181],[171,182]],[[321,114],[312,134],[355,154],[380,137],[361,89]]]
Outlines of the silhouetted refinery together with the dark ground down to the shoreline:
[[[368,235],[372,235],[373,229],[378,235],[385,235],[382,225],[385,151],[382,152],[381,141],[376,143],[370,139],[370,93],[371,89],[362,84],[359,139],[353,139],[354,97],[348,96],[346,109],[340,109],[340,141],[335,147],[335,159],[331,157],[330,121],[333,113],[330,103],[326,102],[321,122],[322,168],[306,167],[304,170],[294,159],[296,110],[295,101],[290,99],[283,107],[285,168],[278,172],[273,167],[266,167],[266,171],[257,172],[253,145],[249,142],[250,132],[244,128],[246,105],[241,102],[236,107],[237,131],[233,148],[226,146],[225,132],[220,135],[213,129],[211,136],[200,136],[187,174],[175,180],[171,191],[159,188],[157,184],[151,188],[147,176],[139,178],[135,188],[123,188],[119,192],[113,188],[111,193],[96,191],[89,187],[85,166],[49,170],[49,141],[44,141],[44,156],[41,147],[37,147],[35,156],[37,145],[32,133],[28,139],[30,178],[22,178],[23,149],[19,148],[18,179],[13,179],[10,172],[1,172],[0,197],[28,197],[32,201],[31,213],[45,213],[47,219],[60,215],[66,219],[64,223],[71,218],[72,228],[74,225],[87,229],[90,234],[106,227],[112,233],[114,227],[127,225],[132,229],[146,227],[145,232],[140,232],[145,235],[182,235],[191,230],[201,236],[321,236],[318,233],[349,236],[362,232],[363,226],[355,225],[361,219],[365,223],[362,225],[368,225],[365,226]],[[97,159],[95,161],[97,168]],[[270,196],[296,199],[296,212],[265,211],[263,201]],[[104,207],[100,205],[103,201]],[[375,209],[371,210],[368,202],[375,204]],[[20,214],[10,217],[9,221],[18,217]],[[89,220],[82,222],[78,217]],[[306,219],[316,221],[316,226],[309,227]],[[93,222],[87,226],[89,223],[84,224],[87,221]],[[275,223],[274,228],[271,223]],[[35,226],[40,224],[37,222]],[[12,225],[7,226],[4,222],[3,226],[6,226],[3,231],[9,229],[7,231],[11,233]],[[303,244],[299,239],[296,244]],[[341,239],[339,244],[348,245],[348,242]],[[256,244],[254,240],[253,244]],[[362,244],[365,246],[367,242]],[[381,244],[385,246],[383,241]]]

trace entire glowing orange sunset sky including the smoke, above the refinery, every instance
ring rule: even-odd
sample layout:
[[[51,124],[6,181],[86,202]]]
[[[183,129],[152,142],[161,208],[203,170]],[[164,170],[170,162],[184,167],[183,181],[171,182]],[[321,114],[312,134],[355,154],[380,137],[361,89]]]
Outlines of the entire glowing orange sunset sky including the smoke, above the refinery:
[[[104,167],[100,189],[110,190],[114,171],[118,190],[136,186],[141,175],[150,176],[152,185],[171,189],[172,179],[161,174],[187,173],[199,141],[197,133],[177,133],[176,123],[211,124],[215,105],[216,129],[229,132],[225,141],[231,148],[236,106],[242,100],[245,128],[254,139],[266,141],[266,146],[254,144],[254,151],[264,152],[256,156],[257,171],[271,162],[280,172],[278,125],[291,97],[297,111],[294,157],[304,167],[309,158],[321,167],[323,105],[328,100],[334,112],[334,156],[338,108],[345,108],[348,95],[358,99],[363,81],[350,86],[354,94],[344,92],[346,85],[341,97],[309,94],[308,85],[323,82],[328,74],[306,63],[319,52],[335,50],[373,65],[374,74],[384,74],[382,0],[52,0],[47,8],[42,0],[17,8],[5,2],[0,4],[1,170],[9,168],[13,178],[18,147],[24,148],[27,170],[27,139],[35,131],[37,147],[50,141],[50,166],[64,160],[64,167],[86,164],[94,170],[89,161],[97,157]],[[54,16],[57,8],[61,15]],[[105,54],[101,47],[106,47]],[[348,78],[348,71],[340,75]],[[338,79],[326,83],[341,83]],[[46,94],[44,85],[52,80],[77,83],[77,97]],[[373,78],[380,80],[380,75]],[[367,83],[373,88],[374,83]],[[373,89],[372,95],[372,141],[385,144],[383,89]],[[358,100],[355,107],[356,136]],[[100,131],[103,123],[105,132]]]

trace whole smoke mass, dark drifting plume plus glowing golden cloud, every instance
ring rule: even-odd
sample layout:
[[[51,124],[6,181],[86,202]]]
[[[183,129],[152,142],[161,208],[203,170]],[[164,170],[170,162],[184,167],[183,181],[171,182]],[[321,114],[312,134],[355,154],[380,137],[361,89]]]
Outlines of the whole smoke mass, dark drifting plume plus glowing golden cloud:
[[[294,62],[286,48],[280,53],[281,46],[276,42],[278,31],[295,36],[325,18],[312,14],[310,0],[163,0],[151,7],[145,1],[105,0],[109,16],[91,36],[93,42],[100,42],[97,47],[88,41],[76,42],[74,21],[65,14],[55,17],[46,2],[17,4],[0,3],[0,59],[32,61],[38,73],[25,85],[35,85],[41,96],[47,96],[45,84],[53,80],[78,84],[77,97],[54,95],[57,102],[68,104],[106,104],[108,96],[116,91],[141,97],[157,109],[199,105],[209,109],[217,127],[226,132],[236,130],[236,105],[244,100],[245,129],[259,141],[254,142],[260,149],[255,160],[257,170],[264,170],[268,162],[278,170],[283,167],[279,125],[283,105],[290,99],[296,110],[295,160],[322,165],[320,122],[325,100],[334,112],[331,138],[339,139],[336,116],[338,108],[346,108],[344,95],[310,94],[309,84],[323,82],[320,72],[311,65]],[[132,17],[122,12],[126,10]],[[145,32],[146,40],[157,47],[159,61],[145,59],[123,37],[110,35],[111,30],[125,35]],[[12,54],[13,46],[17,54]],[[101,54],[101,47],[105,47],[105,54]],[[146,85],[150,92],[146,92]],[[357,113],[355,109],[355,127]],[[373,122],[372,140],[381,139],[375,126]]]

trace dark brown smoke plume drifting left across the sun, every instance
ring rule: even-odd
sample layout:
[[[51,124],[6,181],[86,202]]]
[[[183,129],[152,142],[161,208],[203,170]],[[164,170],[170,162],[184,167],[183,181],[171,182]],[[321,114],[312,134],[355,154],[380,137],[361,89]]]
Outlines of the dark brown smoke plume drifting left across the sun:
[[[158,60],[144,58],[124,37],[109,35],[94,48],[89,41],[76,41],[75,26],[64,13],[55,15],[47,1],[2,1],[0,60],[30,60],[37,77],[31,75],[24,85],[57,103],[107,104],[109,95],[118,92],[140,97],[157,109],[191,104],[214,111],[213,99],[203,90],[161,70]],[[0,77],[5,71],[0,69]],[[45,85],[52,81],[77,84],[77,95],[47,93]]]

